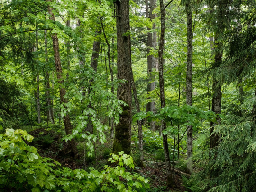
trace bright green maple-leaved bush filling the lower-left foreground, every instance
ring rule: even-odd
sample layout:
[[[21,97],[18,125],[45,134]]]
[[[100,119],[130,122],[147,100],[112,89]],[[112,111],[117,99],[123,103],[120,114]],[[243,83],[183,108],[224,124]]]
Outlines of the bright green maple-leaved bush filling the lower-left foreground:
[[[109,161],[116,167],[104,166],[102,171],[90,167],[71,170],[41,157],[29,146],[33,136],[24,130],[6,129],[0,134],[0,189],[18,192],[145,192],[148,181],[125,167],[134,168],[131,156],[111,154]]]

